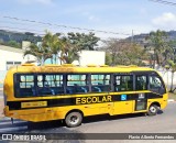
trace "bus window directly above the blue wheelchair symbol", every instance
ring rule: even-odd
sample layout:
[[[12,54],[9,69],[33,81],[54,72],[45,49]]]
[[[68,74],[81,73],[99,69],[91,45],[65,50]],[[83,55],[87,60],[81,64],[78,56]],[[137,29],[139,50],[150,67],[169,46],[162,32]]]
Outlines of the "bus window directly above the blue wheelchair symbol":
[[[114,78],[116,91],[130,91],[133,90],[133,76],[132,75],[117,75]]]

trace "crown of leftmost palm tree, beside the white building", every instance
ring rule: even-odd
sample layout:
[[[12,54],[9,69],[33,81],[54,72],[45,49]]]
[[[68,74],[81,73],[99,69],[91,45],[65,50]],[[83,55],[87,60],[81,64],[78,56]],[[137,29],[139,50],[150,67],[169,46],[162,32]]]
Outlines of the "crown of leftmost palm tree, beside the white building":
[[[52,54],[50,53],[50,51],[45,47],[43,47],[42,45],[35,45],[35,44],[31,44],[29,48],[26,48],[24,51],[24,56],[25,55],[33,55],[36,57],[36,61],[40,65],[44,65],[44,62],[47,58],[52,57]]]

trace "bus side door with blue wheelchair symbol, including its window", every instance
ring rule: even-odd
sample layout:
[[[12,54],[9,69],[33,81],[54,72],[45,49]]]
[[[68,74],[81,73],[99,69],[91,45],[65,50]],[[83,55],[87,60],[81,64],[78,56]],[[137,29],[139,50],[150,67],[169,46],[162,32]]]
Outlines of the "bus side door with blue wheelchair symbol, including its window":
[[[113,114],[132,113],[133,101],[133,75],[117,74],[113,78],[114,95],[113,95]]]

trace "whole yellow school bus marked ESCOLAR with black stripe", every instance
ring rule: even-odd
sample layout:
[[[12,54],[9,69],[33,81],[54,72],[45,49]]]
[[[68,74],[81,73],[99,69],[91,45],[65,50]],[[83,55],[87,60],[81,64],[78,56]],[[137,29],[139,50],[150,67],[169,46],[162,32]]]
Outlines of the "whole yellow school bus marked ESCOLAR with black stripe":
[[[138,66],[24,64],[8,70],[3,90],[6,117],[32,122],[64,120],[70,128],[88,116],[155,116],[167,105],[160,74]]]

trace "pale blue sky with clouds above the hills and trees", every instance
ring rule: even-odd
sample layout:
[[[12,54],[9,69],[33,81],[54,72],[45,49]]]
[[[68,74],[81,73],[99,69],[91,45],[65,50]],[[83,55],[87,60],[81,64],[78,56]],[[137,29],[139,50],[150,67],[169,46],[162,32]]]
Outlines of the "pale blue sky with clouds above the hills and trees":
[[[80,28],[106,31],[95,31],[102,38],[123,38],[132,35],[132,31],[135,35],[158,29],[176,30],[175,9],[176,6],[151,0],[0,0],[0,29],[36,34],[43,34],[45,30],[53,33],[89,32],[73,29]]]

